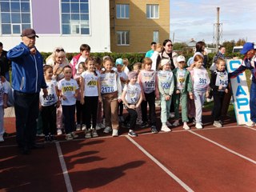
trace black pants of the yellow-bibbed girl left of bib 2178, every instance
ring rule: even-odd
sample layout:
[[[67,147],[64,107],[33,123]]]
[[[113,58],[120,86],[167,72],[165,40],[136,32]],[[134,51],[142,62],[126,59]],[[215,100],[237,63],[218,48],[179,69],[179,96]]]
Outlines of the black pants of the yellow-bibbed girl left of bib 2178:
[[[86,128],[90,128],[90,121],[92,121],[92,128],[96,127],[97,112],[98,112],[98,96],[96,97],[85,97],[85,119]]]

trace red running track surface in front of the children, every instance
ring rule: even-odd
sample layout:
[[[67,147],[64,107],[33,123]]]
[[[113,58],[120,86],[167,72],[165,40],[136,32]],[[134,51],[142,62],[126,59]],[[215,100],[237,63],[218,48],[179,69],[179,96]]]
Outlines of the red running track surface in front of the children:
[[[84,139],[82,132],[81,139],[72,142],[61,142],[64,138],[58,137],[60,148],[50,143],[45,149],[22,155],[17,146],[12,146],[16,144],[14,118],[5,118],[10,137],[0,143],[0,190],[255,191],[256,128],[236,126],[234,120],[227,119],[224,128],[210,129],[210,113],[204,117],[205,129],[193,127],[191,131],[215,144],[181,126],[170,133],[143,134],[150,133],[150,129],[138,130],[138,138],[132,139],[154,159],[126,137]],[[126,131],[122,133],[126,135]],[[100,135],[107,134],[101,131]]]

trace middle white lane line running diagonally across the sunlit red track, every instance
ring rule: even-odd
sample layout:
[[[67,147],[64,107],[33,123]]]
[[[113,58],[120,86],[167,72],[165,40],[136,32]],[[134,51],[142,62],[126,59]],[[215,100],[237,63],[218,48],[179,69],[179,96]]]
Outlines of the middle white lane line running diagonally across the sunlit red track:
[[[173,174],[170,170],[166,168],[166,166],[162,165],[161,162],[159,162],[156,158],[154,158],[150,153],[148,153],[142,146],[138,144],[138,142],[135,142],[134,139],[130,138],[129,136],[126,135],[126,138],[130,140],[135,146],[138,147],[139,150],[143,152],[143,154],[146,154],[148,158],[150,158],[154,163],[156,163],[162,170],[166,172],[166,174],[169,174],[171,178],[173,178],[176,182],[178,182],[179,185],[181,185],[186,191],[194,191],[192,190],[189,186],[186,185],[185,182],[182,182],[180,178],[178,178],[175,174]]]

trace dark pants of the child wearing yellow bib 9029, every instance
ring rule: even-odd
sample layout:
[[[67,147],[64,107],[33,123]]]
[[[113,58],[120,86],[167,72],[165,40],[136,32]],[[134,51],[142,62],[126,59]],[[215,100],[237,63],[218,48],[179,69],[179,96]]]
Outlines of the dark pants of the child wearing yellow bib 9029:
[[[65,132],[66,134],[70,134],[74,131],[75,105],[62,106],[62,114],[64,118]]]

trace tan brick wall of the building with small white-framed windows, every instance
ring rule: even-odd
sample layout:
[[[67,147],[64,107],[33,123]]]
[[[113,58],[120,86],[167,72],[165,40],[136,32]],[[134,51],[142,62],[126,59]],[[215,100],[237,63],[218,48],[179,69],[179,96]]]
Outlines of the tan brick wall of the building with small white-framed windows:
[[[130,18],[117,19],[115,4],[129,4]],[[159,5],[159,18],[146,18],[146,4]],[[130,46],[117,46],[116,31],[130,31]],[[153,41],[153,31],[159,31],[159,42],[169,38],[170,3],[169,0],[110,0],[110,50],[112,52],[146,52]]]

